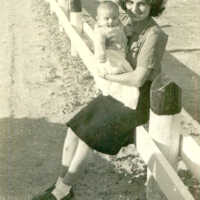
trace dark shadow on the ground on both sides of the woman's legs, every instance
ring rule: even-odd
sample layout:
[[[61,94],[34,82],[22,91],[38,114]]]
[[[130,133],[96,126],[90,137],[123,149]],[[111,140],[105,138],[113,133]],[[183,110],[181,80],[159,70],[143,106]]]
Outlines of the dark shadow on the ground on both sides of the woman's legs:
[[[28,118],[1,119],[0,127],[0,198],[29,200],[56,180],[66,127]],[[76,199],[145,199],[144,178],[112,162],[134,165],[134,159],[133,152],[110,161],[92,153],[75,187]]]

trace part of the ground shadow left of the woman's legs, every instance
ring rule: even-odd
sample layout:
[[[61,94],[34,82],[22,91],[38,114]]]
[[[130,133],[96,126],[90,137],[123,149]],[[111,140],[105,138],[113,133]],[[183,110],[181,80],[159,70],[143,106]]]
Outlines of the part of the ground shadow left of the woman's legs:
[[[64,125],[8,118],[0,127],[0,196],[26,195],[56,178]]]

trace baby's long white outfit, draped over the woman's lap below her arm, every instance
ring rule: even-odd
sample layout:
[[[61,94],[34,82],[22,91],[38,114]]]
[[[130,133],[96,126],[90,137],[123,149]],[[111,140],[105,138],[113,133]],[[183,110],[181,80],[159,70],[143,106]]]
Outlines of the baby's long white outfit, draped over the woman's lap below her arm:
[[[126,60],[127,39],[120,24],[115,27],[95,26],[95,55],[105,54],[106,62],[98,63],[98,70],[104,74],[122,74],[133,71],[131,65]],[[134,86],[126,86],[117,82],[105,80],[95,76],[97,88],[104,96],[111,95],[125,106],[136,109],[139,90]]]

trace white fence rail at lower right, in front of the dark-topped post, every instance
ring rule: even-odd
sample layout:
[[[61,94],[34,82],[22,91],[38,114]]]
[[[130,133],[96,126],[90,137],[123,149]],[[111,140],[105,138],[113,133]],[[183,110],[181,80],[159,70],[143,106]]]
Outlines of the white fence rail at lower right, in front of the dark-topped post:
[[[194,200],[177,173],[142,126],[137,128],[136,138],[138,152],[166,197],[170,200]]]

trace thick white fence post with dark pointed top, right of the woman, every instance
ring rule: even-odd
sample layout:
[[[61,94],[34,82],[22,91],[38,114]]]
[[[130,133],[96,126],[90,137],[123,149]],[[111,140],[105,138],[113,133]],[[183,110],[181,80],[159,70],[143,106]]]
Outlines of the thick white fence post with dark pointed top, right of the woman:
[[[166,76],[159,76],[152,84],[150,100],[149,134],[176,170],[180,143],[180,125],[176,116],[181,111],[181,89]],[[147,171],[146,194],[147,200],[167,199],[150,170]]]

